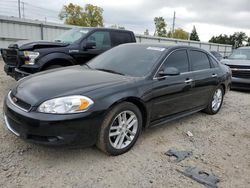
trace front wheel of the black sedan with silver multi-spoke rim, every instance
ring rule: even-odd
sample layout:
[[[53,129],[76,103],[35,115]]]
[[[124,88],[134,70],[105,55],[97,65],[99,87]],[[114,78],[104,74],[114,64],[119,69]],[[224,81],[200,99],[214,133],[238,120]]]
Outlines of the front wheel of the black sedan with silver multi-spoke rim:
[[[129,127],[132,123],[133,126]],[[122,102],[114,106],[105,116],[96,145],[108,155],[120,155],[133,147],[141,130],[142,115],[140,110],[133,103]]]

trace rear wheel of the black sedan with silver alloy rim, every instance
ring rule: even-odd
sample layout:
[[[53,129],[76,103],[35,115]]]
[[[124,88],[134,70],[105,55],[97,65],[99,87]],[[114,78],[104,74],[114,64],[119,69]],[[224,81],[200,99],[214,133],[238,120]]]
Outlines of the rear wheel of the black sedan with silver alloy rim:
[[[213,95],[211,96],[209,100],[209,104],[207,108],[204,110],[204,112],[210,115],[217,114],[220,111],[220,108],[222,106],[224,94],[225,94],[225,91],[223,87],[222,86],[217,87],[215,91],[213,92]],[[216,95],[217,95],[217,98],[215,98]]]

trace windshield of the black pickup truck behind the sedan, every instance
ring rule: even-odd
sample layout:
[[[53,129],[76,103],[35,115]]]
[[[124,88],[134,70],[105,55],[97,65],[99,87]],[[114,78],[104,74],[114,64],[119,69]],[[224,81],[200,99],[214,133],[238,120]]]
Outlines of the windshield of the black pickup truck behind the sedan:
[[[88,28],[73,28],[61,34],[59,37],[55,39],[55,41],[71,44],[79,40],[80,38],[84,37],[89,31],[90,29]]]

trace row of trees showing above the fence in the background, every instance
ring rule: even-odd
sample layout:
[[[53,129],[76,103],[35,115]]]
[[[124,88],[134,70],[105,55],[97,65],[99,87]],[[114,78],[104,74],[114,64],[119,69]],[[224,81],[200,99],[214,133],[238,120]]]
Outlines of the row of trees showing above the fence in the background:
[[[103,27],[103,9],[92,4],[86,4],[81,7],[77,4],[69,3],[64,5],[59,13],[59,18],[64,20],[65,24],[78,25],[83,27]],[[193,26],[191,33],[183,30],[182,28],[177,28],[175,30],[169,30],[167,32],[167,23],[163,17],[155,17],[155,32],[154,36],[176,38],[183,40],[194,40],[200,41],[199,35],[197,33],[196,27]],[[125,27],[114,24],[111,27],[118,29],[125,29]],[[149,35],[149,30],[146,29],[144,35]],[[233,35],[219,35],[213,36],[209,42],[220,43],[220,44],[230,44],[234,48],[240,46],[250,46],[250,37],[248,37],[244,32],[235,32]]]

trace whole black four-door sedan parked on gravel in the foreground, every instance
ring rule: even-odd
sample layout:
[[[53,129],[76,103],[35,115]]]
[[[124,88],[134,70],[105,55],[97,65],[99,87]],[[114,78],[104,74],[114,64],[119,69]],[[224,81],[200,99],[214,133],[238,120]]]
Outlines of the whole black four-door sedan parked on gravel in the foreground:
[[[231,71],[204,50],[125,44],[83,66],[20,80],[6,96],[6,126],[23,139],[81,142],[119,155],[141,130],[201,110],[216,114]]]

